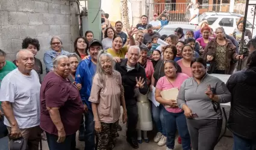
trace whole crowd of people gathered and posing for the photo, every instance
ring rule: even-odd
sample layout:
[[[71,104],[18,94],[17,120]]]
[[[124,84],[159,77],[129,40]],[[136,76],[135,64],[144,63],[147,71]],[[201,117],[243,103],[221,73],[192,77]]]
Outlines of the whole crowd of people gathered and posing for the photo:
[[[151,23],[143,15],[142,23],[125,33],[122,22],[114,27],[103,22],[102,41],[87,31],[76,38],[72,53],[52,37],[43,56],[44,78],[37,39],[24,38],[13,62],[0,50],[0,119],[5,125],[0,136],[9,133],[10,140],[23,139],[36,150],[45,133],[50,150],[74,150],[79,131],[84,149],[114,149],[122,106],[132,148],[150,142],[147,131],[155,127],[154,142],[167,150],[175,148],[176,130],[184,150],[213,150],[222,129],[220,103],[231,101],[228,128],[234,150],[255,149],[256,39],[249,41],[249,56],[244,56],[236,39],[229,40],[233,37],[221,27],[213,32],[205,20],[198,31],[177,28],[174,35],[156,32],[162,23],[157,14]],[[246,65],[234,73],[237,61]],[[232,75],[223,83],[211,73]],[[173,88],[178,89],[176,100],[164,99],[161,93]],[[152,91],[159,106],[148,100]]]

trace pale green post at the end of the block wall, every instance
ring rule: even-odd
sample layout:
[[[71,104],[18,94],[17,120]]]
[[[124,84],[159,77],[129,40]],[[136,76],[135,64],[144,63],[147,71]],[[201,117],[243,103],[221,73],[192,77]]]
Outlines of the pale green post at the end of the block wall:
[[[101,40],[101,0],[87,0],[88,26],[93,37]]]

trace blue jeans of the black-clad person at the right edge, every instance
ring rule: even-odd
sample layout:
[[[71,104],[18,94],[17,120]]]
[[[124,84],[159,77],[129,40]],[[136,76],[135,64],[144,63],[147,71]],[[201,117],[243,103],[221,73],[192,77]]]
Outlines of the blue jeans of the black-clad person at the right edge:
[[[243,137],[236,136],[234,134],[234,145],[233,150],[255,150],[256,149],[256,139],[248,140],[243,139]]]

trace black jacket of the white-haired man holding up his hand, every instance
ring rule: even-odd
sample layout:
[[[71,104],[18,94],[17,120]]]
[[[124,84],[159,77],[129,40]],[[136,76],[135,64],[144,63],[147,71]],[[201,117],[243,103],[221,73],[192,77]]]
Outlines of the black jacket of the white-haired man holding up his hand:
[[[140,89],[139,91],[141,94],[146,94],[148,92],[148,86],[146,83],[146,73],[145,69],[139,65],[136,64],[135,68],[131,71],[126,70],[126,64],[128,59],[122,59],[121,62],[116,63],[116,71],[119,71],[119,73],[122,76],[122,85],[125,91],[125,104],[136,104],[136,101],[134,100],[134,88],[136,87],[136,77],[139,80],[140,77],[142,77],[145,81],[144,88]]]

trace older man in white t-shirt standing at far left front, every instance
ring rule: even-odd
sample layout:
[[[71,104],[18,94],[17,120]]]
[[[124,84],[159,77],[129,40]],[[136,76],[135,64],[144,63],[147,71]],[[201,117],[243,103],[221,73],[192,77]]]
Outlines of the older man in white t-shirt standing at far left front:
[[[16,55],[17,68],[1,82],[0,101],[4,110],[4,124],[12,139],[23,137],[28,149],[38,150],[41,137],[40,82],[30,50],[20,50]]]

